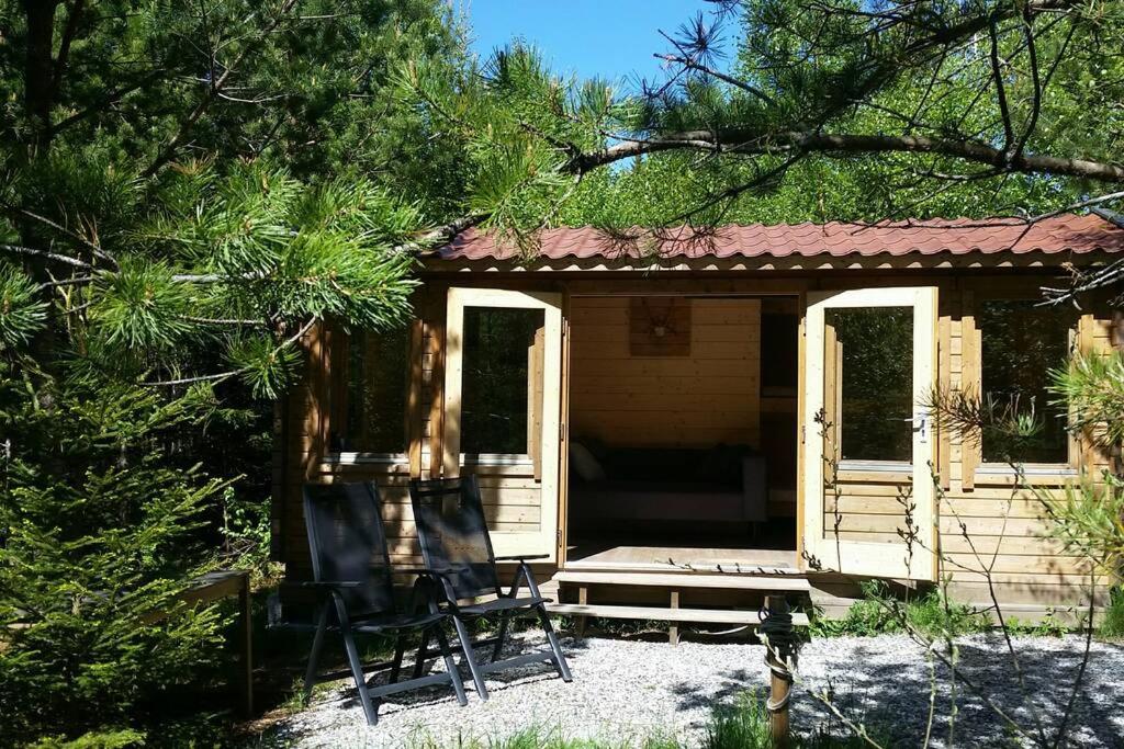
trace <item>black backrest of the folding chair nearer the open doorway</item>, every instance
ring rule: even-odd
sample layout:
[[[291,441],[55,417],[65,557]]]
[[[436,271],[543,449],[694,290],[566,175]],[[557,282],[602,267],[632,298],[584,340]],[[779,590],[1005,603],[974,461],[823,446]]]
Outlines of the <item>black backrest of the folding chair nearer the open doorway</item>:
[[[410,482],[414,523],[427,567],[452,570],[459,599],[499,594],[496,555],[475,476]]]

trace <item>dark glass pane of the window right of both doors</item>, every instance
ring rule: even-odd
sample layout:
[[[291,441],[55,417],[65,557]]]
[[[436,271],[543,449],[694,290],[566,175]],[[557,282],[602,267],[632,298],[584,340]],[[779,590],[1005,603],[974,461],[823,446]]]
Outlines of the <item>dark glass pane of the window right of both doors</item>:
[[[1033,301],[987,301],[980,304],[981,380],[985,403],[1000,419],[1034,414],[1040,429],[1012,436],[985,430],[985,463],[1067,463],[1066,412],[1050,405],[1050,369],[1069,355],[1072,312],[1036,307]]]

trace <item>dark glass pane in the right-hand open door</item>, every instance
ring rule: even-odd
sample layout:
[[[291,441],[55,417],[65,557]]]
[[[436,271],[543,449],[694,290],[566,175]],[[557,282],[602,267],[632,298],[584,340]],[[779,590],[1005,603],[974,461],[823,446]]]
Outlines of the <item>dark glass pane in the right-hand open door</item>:
[[[841,459],[912,462],[913,308],[828,309],[826,323]]]

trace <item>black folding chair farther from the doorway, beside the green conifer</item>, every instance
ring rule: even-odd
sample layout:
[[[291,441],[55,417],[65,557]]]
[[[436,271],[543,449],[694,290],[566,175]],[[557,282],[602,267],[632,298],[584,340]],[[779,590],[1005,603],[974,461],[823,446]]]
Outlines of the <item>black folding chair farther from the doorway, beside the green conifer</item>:
[[[378,722],[382,697],[407,689],[452,684],[457,702],[468,704],[464,685],[443,629],[448,615],[438,611],[436,604],[429,605],[427,600],[432,586],[416,584],[410,608],[406,612],[399,612],[395,605],[390,554],[382,519],[379,517],[378,487],[373,483],[306,484],[305,523],[308,528],[315,578],[305,585],[319,594],[316,637],[305,674],[305,698],[308,698],[317,681],[317,660],[334,609],[335,624],[343,634],[347,663],[369,724]],[[363,664],[355,647],[355,632],[395,637],[395,659],[389,684],[371,686],[363,676]],[[447,673],[425,677],[415,675],[415,678],[398,681],[406,636],[410,632],[417,632],[424,640],[423,649],[428,643],[429,636],[436,636]],[[418,658],[423,655],[419,651]]]

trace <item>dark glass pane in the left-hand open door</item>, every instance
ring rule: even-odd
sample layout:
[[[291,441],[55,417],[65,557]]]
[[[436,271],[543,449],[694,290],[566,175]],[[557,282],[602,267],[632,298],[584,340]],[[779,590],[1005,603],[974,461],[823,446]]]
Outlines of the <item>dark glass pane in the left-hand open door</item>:
[[[528,365],[544,320],[543,310],[464,308],[462,453],[528,453]]]

